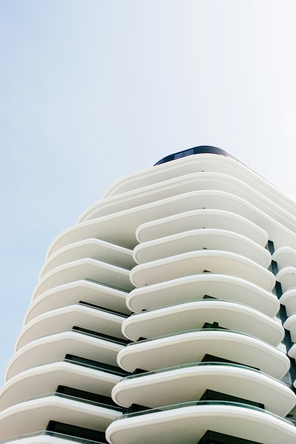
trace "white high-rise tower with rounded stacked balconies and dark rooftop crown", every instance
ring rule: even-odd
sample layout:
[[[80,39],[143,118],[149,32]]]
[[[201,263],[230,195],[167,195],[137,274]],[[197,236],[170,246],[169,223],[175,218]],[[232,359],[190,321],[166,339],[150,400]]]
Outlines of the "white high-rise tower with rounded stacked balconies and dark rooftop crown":
[[[49,246],[0,441],[295,444],[296,201],[215,147],[119,179]]]

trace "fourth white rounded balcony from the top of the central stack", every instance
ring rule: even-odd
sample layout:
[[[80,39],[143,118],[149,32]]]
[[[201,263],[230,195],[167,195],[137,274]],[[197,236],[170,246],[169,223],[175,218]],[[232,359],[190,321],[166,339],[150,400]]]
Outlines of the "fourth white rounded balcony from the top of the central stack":
[[[236,276],[216,273],[194,274],[135,288],[127,295],[126,305],[130,311],[140,312],[205,295],[249,305],[270,317],[280,309],[276,296],[258,285]]]

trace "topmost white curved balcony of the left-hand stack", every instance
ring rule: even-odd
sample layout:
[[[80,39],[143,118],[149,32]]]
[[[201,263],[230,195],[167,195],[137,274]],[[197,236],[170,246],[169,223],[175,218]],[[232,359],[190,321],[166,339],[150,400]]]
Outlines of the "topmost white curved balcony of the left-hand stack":
[[[85,239],[67,245],[52,254],[45,261],[38,280],[56,267],[84,258],[101,260],[131,270],[135,266],[132,256],[133,252],[127,248],[96,238]]]

